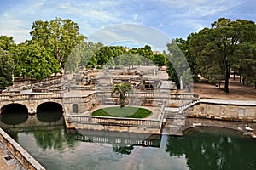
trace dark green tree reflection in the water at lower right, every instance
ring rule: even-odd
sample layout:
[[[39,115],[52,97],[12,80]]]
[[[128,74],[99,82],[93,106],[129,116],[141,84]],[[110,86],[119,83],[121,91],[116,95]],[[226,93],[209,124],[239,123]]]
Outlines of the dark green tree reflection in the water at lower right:
[[[193,129],[177,138],[169,137],[166,152],[183,156],[192,170],[256,169],[256,141],[217,127]]]

